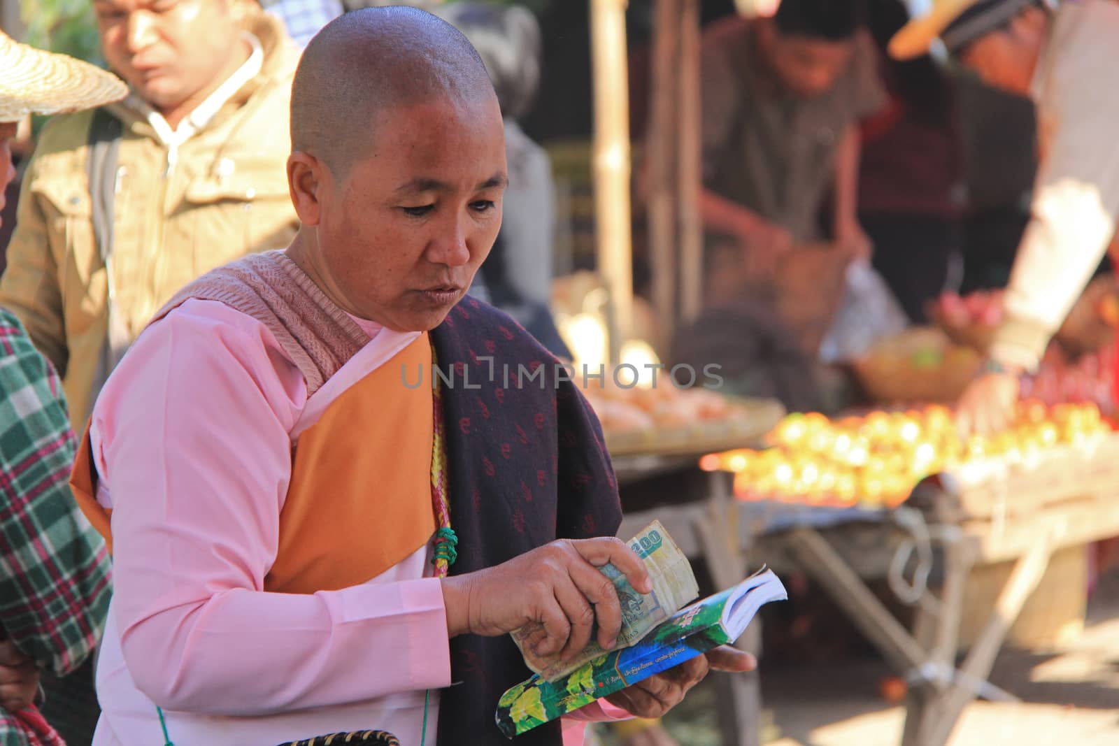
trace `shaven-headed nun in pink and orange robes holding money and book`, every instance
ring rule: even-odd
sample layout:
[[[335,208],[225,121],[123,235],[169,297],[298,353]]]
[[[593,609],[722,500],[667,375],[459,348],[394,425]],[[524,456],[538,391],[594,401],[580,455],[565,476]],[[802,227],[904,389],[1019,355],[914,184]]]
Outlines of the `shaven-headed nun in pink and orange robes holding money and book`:
[[[612,538],[585,399],[464,299],[501,223],[497,98],[453,27],[378,8],[310,43],[291,105],[298,236],[156,317],[74,470],[116,588],[94,743],[506,744],[497,700],[528,676],[507,633],[609,648],[621,613],[596,567],[651,586]],[[713,665],[753,661],[713,652],[518,743],[658,716]]]

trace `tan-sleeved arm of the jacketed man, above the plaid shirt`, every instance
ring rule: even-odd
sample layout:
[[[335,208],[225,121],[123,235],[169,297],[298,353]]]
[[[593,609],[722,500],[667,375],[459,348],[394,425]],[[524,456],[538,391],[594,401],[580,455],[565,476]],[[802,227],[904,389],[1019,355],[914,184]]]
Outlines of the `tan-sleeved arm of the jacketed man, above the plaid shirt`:
[[[35,347],[59,376],[65,376],[68,355],[58,267],[46,216],[38,195],[31,191],[37,164],[32,157],[20,187],[16,229],[8,244],[7,268],[0,276],[0,308],[19,318]]]

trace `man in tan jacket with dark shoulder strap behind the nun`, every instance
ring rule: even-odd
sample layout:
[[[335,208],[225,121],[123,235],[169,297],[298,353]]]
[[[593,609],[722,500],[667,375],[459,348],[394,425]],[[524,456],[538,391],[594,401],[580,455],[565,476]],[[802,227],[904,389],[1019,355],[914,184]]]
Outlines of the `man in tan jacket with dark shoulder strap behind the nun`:
[[[64,377],[78,432],[182,285],[286,246],[299,51],[254,0],[94,0],[120,104],[55,119],[23,178],[0,305]]]

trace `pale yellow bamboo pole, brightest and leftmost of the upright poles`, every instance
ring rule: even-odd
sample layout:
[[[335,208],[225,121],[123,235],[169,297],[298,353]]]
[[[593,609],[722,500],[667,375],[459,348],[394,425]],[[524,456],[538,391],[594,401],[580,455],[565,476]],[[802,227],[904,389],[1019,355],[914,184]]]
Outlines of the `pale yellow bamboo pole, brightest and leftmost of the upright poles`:
[[[628,0],[590,0],[594,70],[594,219],[599,270],[610,289],[610,357],[633,333],[630,226]]]

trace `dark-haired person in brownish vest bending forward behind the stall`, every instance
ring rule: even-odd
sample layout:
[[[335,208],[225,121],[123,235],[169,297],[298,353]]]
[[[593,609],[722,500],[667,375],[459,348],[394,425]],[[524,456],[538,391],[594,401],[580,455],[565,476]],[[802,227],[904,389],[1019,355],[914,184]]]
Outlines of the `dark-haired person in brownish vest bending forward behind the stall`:
[[[868,256],[856,215],[858,121],[884,93],[857,2],[783,0],[772,18],[718,21],[704,32],[702,70],[707,230],[735,239],[759,267],[821,237]]]

